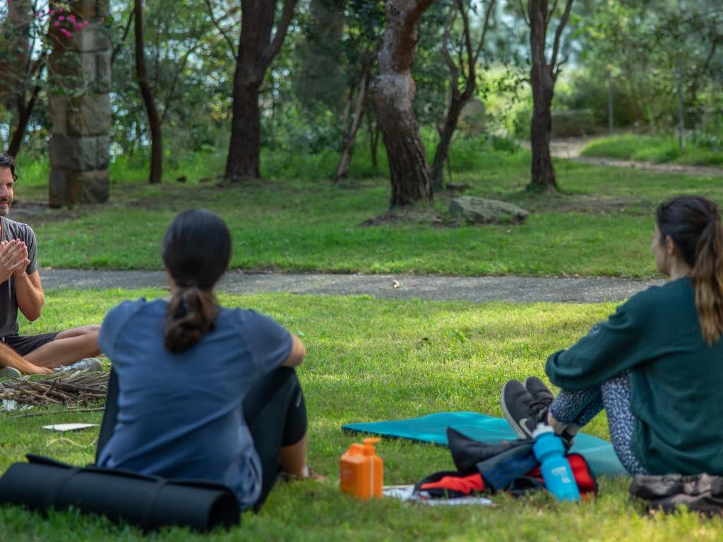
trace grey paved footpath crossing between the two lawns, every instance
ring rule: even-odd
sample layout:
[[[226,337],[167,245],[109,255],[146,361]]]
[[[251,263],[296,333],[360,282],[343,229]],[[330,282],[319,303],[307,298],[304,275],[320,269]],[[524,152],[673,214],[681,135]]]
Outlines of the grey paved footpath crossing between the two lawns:
[[[161,271],[40,270],[43,287],[163,288]],[[311,293],[369,295],[392,299],[466,299],[469,301],[622,301],[663,280],[621,278],[442,277],[430,275],[286,275],[231,271],[219,290],[227,293]]]

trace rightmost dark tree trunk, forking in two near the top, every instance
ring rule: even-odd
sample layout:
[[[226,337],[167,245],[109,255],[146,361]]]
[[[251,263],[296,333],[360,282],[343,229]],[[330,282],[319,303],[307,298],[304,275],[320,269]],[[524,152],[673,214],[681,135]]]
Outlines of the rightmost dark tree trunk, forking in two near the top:
[[[555,40],[549,61],[545,54],[547,27],[552,13],[548,11],[547,0],[529,0],[527,7],[530,25],[530,51],[532,66],[530,83],[532,86],[532,120],[530,126],[530,145],[532,150],[531,180],[529,189],[544,192],[557,192],[555,168],[549,153],[549,139],[552,133],[552,97],[555,93],[555,79],[559,72],[557,53],[560,51],[562,30],[570,17],[573,0],[567,0],[565,12],[555,30]],[[553,4],[557,5],[557,1]]]

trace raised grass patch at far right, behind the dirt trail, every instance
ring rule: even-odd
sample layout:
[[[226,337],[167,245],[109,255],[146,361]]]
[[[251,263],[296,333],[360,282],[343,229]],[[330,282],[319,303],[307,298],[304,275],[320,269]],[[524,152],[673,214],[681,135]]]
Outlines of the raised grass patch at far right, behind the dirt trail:
[[[583,156],[604,156],[640,162],[680,163],[690,165],[723,165],[723,151],[685,142],[683,152],[678,148],[676,137],[623,134],[601,137],[583,149]]]

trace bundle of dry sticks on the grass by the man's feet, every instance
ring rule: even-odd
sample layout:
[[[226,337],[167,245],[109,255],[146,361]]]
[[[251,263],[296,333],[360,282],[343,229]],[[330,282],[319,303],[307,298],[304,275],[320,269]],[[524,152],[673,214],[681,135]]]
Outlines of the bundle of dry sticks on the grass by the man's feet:
[[[59,373],[44,379],[27,377],[0,382],[0,402],[13,400],[22,405],[88,405],[106,398],[109,373]]]

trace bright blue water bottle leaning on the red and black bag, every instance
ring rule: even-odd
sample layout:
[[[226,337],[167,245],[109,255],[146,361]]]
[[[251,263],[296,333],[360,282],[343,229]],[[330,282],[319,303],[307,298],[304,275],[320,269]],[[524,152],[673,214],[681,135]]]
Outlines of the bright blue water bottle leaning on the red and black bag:
[[[532,450],[540,462],[540,471],[547,490],[561,501],[579,501],[580,490],[573,476],[570,462],[565,457],[562,439],[552,427],[539,423],[532,432],[535,444]]]

